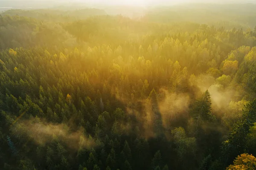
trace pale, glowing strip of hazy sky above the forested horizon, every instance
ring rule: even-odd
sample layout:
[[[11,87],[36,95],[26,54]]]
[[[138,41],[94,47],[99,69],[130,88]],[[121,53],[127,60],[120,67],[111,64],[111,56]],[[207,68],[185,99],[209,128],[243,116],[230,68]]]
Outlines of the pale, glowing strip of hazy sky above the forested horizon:
[[[0,0],[0,7],[51,8],[56,6],[169,6],[185,3],[256,3],[255,0]]]

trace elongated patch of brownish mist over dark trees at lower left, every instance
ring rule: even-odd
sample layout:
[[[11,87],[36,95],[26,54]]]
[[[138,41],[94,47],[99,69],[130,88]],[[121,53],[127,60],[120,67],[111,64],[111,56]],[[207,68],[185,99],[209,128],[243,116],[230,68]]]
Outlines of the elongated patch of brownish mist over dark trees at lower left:
[[[40,121],[39,118],[20,119],[11,127],[11,131],[18,138],[26,136],[30,141],[38,145],[44,145],[54,139],[63,142],[72,150],[80,148],[90,149],[96,147],[96,142],[91,136],[86,136],[83,129],[71,131],[67,124],[54,124]]]

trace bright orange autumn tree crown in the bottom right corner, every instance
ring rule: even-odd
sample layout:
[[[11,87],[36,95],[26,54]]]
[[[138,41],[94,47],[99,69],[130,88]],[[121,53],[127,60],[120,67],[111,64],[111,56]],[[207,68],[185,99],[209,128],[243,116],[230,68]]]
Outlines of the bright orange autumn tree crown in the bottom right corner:
[[[253,155],[243,153],[226,170],[256,170],[256,158]]]

